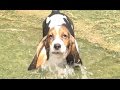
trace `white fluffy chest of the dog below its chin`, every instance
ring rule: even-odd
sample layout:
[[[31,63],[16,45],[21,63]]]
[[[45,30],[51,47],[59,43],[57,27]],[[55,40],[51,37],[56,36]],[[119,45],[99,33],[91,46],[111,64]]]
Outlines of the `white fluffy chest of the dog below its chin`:
[[[66,58],[63,55],[51,55],[45,63],[45,70],[57,74],[58,77],[64,77],[74,73],[74,69],[67,65]]]

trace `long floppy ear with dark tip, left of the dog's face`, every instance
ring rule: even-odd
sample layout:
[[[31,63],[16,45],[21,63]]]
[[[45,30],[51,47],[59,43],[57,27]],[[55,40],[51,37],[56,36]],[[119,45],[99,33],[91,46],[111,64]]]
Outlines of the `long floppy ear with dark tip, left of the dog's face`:
[[[28,70],[33,70],[33,69],[36,69],[36,68],[42,66],[45,63],[45,61],[47,60],[46,48],[45,48],[46,38],[47,38],[47,36],[45,36],[40,41],[40,43],[37,47],[36,54],[33,58],[33,61],[29,65]]]

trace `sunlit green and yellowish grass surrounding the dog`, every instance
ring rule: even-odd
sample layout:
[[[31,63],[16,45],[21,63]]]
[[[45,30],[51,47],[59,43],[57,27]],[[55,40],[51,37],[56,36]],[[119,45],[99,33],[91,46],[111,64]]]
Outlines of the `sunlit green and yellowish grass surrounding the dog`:
[[[0,11],[0,78],[40,79],[46,72],[27,71],[42,38],[42,22],[51,11]],[[80,56],[89,78],[120,78],[120,11],[66,10],[74,22]],[[47,74],[48,77],[54,78]],[[76,70],[74,76],[81,78]]]

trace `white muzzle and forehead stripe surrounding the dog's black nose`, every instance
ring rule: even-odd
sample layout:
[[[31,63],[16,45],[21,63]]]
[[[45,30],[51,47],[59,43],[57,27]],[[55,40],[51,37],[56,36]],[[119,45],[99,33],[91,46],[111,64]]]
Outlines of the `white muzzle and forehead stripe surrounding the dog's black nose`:
[[[60,35],[59,35],[60,26],[56,26],[55,30],[56,30],[56,35],[55,35],[55,38],[52,42],[52,45],[50,46],[50,52],[66,53],[66,46],[65,46],[64,42],[61,40]],[[61,45],[61,48],[59,50],[56,50],[54,48],[54,45],[57,43]]]

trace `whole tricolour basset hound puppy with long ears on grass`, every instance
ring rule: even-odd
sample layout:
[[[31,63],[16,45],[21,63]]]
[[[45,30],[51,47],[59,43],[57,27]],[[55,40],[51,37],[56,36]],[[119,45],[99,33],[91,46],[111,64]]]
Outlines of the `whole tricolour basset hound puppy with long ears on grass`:
[[[79,66],[82,78],[87,78],[71,19],[59,10],[52,10],[51,14],[43,21],[42,27],[43,38],[28,70],[48,67],[51,72],[55,69],[60,74],[61,72],[65,74],[69,70],[73,73],[73,68]]]

